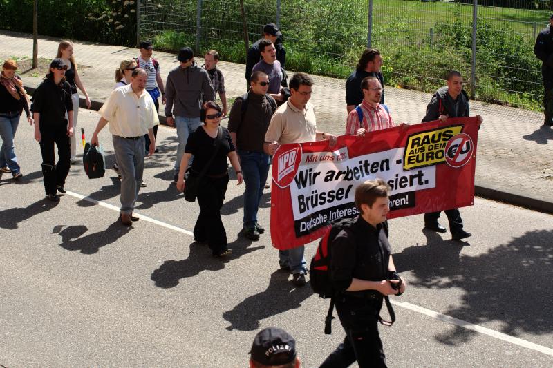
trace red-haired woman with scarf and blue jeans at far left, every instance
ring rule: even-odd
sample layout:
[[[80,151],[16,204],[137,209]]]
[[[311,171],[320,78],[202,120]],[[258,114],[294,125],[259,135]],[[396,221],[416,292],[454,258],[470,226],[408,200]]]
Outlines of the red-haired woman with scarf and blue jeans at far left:
[[[32,124],[32,117],[30,117],[27,93],[21,78],[15,75],[15,70],[17,70],[15,60],[6,60],[0,74],[0,137],[2,138],[0,177],[3,173],[11,171],[12,177],[19,180],[23,174],[15,157],[13,139],[21,112],[25,110],[29,124]]]

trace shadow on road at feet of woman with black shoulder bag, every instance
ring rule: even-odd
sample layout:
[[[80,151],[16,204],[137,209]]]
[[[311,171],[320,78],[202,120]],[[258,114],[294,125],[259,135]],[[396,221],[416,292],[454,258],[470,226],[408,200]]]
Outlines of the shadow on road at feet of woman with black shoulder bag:
[[[236,260],[241,256],[265,248],[265,246],[250,246],[251,240],[238,238],[229,243],[228,247],[232,249],[232,255],[225,258],[213,258],[212,251],[206,244],[192,242],[190,244],[190,253],[185,260],[167,260],[153,271],[151,280],[155,282],[156,287],[169,289],[176,287],[181,278],[191,278],[202,271],[218,271],[225,268],[225,264]]]

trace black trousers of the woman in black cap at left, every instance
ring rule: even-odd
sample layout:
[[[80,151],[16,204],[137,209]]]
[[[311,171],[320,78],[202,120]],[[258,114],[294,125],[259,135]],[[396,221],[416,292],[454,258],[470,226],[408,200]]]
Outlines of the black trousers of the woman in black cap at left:
[[[41,122],[40,153],[42,154],[42,175],[46,194],[56,194],[56,186],[64,186],[69,173],[69,156],[71,140],[67,136],[67,126],[58,124],[46,126]],[[44,125],[42,125],[44,124]],[[57,164],[55,162],[54,144],[57,146]]]

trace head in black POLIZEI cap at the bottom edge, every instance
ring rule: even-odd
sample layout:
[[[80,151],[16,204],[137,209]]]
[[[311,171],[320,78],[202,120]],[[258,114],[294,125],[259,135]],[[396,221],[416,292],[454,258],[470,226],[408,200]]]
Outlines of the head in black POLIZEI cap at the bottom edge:
[[[250,368],[299,368],[296,340],[277,327],[267,327],[257,333],[250,351]]]

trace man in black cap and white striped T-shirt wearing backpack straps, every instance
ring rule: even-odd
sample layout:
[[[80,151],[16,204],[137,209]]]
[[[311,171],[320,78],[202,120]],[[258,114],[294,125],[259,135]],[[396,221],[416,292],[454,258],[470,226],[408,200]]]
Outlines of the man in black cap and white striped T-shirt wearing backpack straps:
[[[153,45],[151,41],[142,41],[140,42],[140,56],[137,57],[136,64],[138,68],[146,70],[148,79],[146,82],[146,92],[150,94],[151,99],[153,99],[153,104],[156,105],[156,111],[160,111],[160,103],[158,98],[161,96],[162,104],[165,104],[165,88],[163,87],[163,79],[161,78],[161,68],[160,64],[156,59],[151,57],[153,52]],[[153,128],[153,137],[158,137],[158,126]],[[146,147],[150,146],[150,138],[148,135],[144,136],[146,139]],[[157,149],[156,149],[157,152]],[[142,182],[141,186],[146,186]]]

